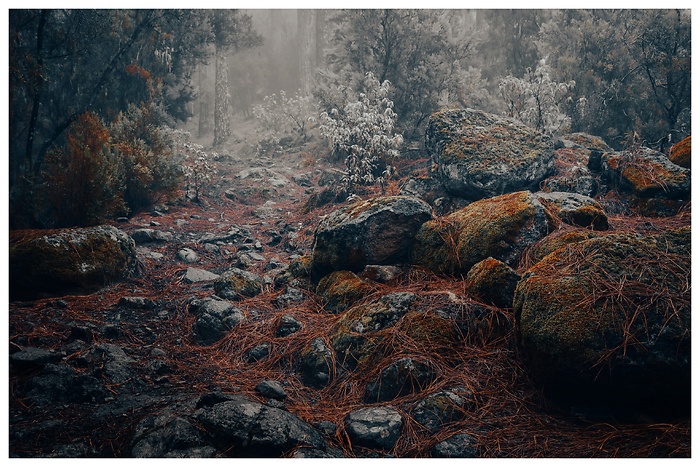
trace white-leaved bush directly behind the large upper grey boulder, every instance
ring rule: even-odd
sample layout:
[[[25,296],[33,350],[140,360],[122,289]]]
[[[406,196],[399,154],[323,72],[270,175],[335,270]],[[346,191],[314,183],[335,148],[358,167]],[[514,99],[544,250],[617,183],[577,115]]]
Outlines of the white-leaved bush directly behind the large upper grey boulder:
[[[548,135],[569,130],[571,118],[560,105],[571,98],[570,91],[576,85],[574,81],[552,81],[551,71],[549,65],[541,63],[534,71],[528,68],[522,78],[509,75],[498,83],[506,114]]]

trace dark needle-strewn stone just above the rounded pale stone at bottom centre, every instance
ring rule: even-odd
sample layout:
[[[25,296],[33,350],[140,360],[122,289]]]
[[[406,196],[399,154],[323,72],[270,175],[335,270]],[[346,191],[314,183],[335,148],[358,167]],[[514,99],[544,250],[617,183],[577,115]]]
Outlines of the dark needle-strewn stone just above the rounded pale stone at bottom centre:
[[[367,402],[386,402],[425,389],[437,377],[429,362],[402,358],[384,368],[367,385]]]

